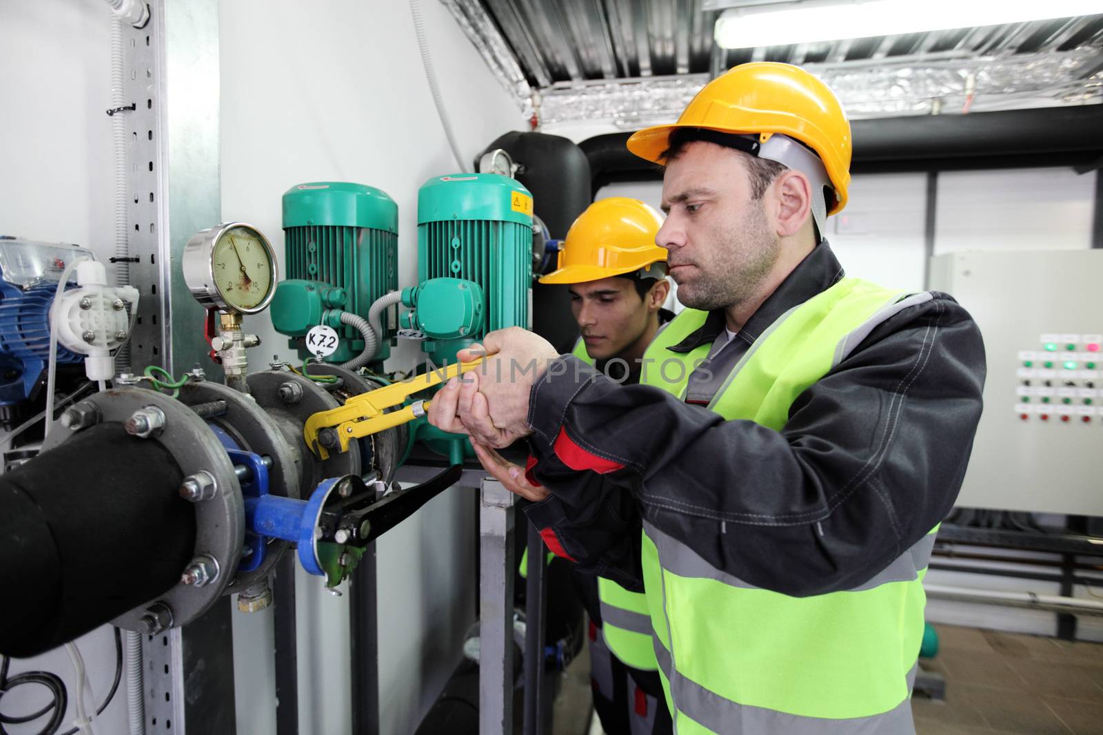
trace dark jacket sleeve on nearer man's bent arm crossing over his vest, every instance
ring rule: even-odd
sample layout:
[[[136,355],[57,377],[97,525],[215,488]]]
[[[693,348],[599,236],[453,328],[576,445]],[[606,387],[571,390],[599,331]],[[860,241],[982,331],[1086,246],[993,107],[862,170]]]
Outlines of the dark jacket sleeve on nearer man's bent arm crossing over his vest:
[[[801,394],[780,432],[579,372],[576,385],[547,377],[534,387],[537,479],[601,473],[607,486],[631,489],[645,521],[716,569],[810,595],[869,580],[953,506],[984,356],[952,301],[906,310]],[[569,484],[549,488],[568,516],[612,493],[595,500]]]

